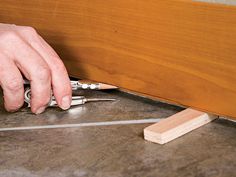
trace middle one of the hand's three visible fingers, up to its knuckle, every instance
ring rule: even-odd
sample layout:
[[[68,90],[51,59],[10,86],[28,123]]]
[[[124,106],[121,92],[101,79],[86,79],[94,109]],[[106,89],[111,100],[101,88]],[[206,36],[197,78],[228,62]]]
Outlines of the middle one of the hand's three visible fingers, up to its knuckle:
[[[51,96],[51,73],[47,63],[15,33],[6,36],[4,45],[1,42],[1,48],[10,51],[8,54],[24,76],[30,80],[32,112],[36,114],[43,112]]]

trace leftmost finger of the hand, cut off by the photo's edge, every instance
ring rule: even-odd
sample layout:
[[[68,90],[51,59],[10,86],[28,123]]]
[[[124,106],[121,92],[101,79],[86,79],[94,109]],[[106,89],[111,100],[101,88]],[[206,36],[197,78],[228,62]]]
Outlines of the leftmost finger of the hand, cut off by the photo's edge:
[[[9,73],[10,71],[10,73]],[[7,111],[16,111],[24,103],[23,78],[15,63],[0,53],[0,85]]]

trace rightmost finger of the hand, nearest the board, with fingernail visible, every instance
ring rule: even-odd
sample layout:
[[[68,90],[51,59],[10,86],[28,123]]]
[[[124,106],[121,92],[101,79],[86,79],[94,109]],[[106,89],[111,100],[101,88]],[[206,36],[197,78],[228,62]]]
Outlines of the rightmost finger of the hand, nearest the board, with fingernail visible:
[[[19,33],[43,57],[49,66],[52,88],[58,105],[68,109],[71,105],[71,85],[66,68],[56,52],[30,27],[21,27]]]

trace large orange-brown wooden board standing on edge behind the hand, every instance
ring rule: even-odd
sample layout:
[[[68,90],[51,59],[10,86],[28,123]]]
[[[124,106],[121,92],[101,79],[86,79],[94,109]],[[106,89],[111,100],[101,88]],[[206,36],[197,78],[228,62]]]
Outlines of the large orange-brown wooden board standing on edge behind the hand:
[[[236,118],[236,7],[191,0],[4,0],[73,76]]]

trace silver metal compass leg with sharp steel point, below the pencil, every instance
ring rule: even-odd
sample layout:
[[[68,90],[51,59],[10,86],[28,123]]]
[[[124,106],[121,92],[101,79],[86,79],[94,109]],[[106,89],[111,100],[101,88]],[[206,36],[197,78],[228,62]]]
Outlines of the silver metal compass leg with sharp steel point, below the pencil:
[[[25,90],[24,100],[30,107],[30,100],[31,100],[31,89],[27,88]],[[115,99],[110,98],[85,98],[84,96],[72,96],[71,106],[76,105],[83,105],[87,102],[97,102],[97,101],[115,101]],[[52,95],[51,100],[48,103],[48,107],[56,107],[58,106],[55,97]]]

